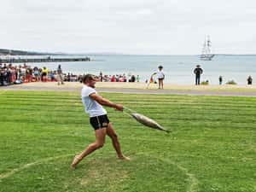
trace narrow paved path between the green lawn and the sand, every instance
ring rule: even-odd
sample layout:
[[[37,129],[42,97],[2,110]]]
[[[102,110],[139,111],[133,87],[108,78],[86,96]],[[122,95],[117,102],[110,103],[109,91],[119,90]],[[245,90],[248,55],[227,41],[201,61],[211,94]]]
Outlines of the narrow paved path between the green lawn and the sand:
[[[80,91],[78,87],[42,87],[42,86],[22,86],[12,85],[0,87],[0,90],[57,90],[57,91]],[[97,88],[99,92],[134,93],[134,94],[172,94],[190,96],[256,96],[256,91],[229,91],[229,90],[143,90],[132,88]]]

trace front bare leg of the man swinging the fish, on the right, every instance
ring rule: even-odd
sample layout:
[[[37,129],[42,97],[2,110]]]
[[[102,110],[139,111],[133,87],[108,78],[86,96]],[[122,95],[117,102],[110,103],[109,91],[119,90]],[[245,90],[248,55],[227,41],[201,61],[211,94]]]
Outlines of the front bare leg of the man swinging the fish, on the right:
[[[113,125],[111,123],[108,124],[107,135],[108,135],[108,137],[111,138],[113,148],[115,149],[119,159],[120,160],[130,160],[129,157],[125,157],[125,155],[122,153],[118,136],[117,136],[116,132],[114,131]]]

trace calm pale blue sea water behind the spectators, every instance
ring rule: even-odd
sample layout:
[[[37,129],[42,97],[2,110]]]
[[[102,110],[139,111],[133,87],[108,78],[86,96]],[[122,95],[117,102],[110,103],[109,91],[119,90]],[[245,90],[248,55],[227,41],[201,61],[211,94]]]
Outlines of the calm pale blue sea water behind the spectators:
[[[210,84],[218,84],[219,75],[224,83],[235,80],[237,84],[247,84],[251,75],[256,81],[256,55],[215,55],[212,61],[201,61],[198,55],[84,55],[93,61],[61,62],[61,63],[30,63],[38,67],[48,67],[55,70],[61,64],[64,73],[93,73],[114,75],[139,75],[141,81],[149,79],[151,74],[162,65],[166,73],[166,83],[194,84],[195,65],[201,65],[203,74],[201,80]],[[81,57],[81,55],[66,55],[66,57]]]

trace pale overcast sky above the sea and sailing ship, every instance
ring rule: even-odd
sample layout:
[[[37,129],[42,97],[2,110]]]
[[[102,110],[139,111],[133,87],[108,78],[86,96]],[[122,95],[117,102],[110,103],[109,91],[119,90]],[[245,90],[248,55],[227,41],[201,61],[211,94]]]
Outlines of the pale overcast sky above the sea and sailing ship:
[[[69,53],[256,54],[255,0],[7,0],[0,48]]]

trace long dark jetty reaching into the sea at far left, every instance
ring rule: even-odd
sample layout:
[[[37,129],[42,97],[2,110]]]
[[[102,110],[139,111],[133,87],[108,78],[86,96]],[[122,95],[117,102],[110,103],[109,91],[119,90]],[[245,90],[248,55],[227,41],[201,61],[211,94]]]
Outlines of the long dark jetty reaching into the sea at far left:
[[[71,58],[0,58],[2,63],[24,63],[24,62],[77,62],[77,61],[90,61],[90,57],[71,57]]]

